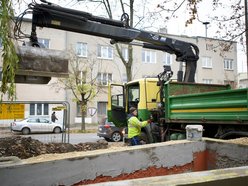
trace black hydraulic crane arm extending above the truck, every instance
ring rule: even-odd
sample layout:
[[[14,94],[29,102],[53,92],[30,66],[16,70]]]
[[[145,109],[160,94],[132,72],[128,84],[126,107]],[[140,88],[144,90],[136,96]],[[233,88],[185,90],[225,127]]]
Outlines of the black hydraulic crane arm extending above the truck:
[[[43,1],[44,2],[44,1]],[[124,42],[132,44],[134,40],[144,48],[155,49],[176,55],[176,61],[185,62],[184,82],[194,82],[199,49],[195,44],[168,38],[157,33],[138,30],[128,25],[128,15],[122,20],[112,20],[93,16],[90,13],[63,8],[52,3],[29,4],[32,10],[32,46],[39,46],[36,27],[48,27],[111,39],[111,44]]]

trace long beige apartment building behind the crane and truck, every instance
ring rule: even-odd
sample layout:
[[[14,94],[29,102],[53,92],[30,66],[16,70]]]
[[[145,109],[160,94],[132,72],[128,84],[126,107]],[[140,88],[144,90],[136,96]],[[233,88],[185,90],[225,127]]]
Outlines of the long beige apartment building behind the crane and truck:
[[[31,33],[31,20],[25,20],[22,31]],[[161,33],[163,34],[163,33]],[[50,28],[37,30],[39,42],[49,49],[61,51],[74,51],[82,59],[94,61],[96,68],[93,73],[97,77],[101,91],[92,100],[88,107],[86,122],[97,122],[106,116],[107,108],[107,83],[125,83],[127,81],[126,71],[117,51],[110,44],[109,39],[90,35],[67,32]],[[237,78],[237,44],[222,40],[205,37],[187,37],[168,35],[166,37],[191,42],[196,44],[200,50],[200,59],[197,62],[196,82],[209,84],[227,84],[235,87]],[[27,40],[26,40],[27,41]],[[20,43],[22,44],[22,43]],[[220,46],[228,45],[230,50],[223,52]],[[124,58],[127,59],[127,46],[121,45]],[[133,79],[143,77],[155,77],[163,71],[163,65],[170,65],[174,71],[173,79],[176,79],[180,62],[175,61],[175,56],[166,52],[144,49],[134,46]],[[183,67],[185,66],[184,64]],[[25,108],[25,116],[47,115],[52,113],[51,101],[66,101],[70,104],[70,123],[81,122],[81,112],[71,91],[58,89],[53,86],[56,78],[47,85],[40,84],[17,84],[17,100],[32,101],[32,106]],[[35,102],[37,101],[37,104]],[[39,103],[47,102],[46,104]],[[31,112],[32,111],[32,112]],[[96,113],[94,114],[94,112]],[[58,111],[57,116],[63,117]]]

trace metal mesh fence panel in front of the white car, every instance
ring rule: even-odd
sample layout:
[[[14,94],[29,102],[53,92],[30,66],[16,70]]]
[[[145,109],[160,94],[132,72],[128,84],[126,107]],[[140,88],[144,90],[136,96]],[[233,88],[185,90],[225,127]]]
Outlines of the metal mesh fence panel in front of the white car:
[[[11,131],[11,124],[15,121],[19,121],[26,117],[36,117],[36,113],[34,115],[30,115],[31,112],[31,104],[32,105],[48,105],[47,113],[51,113],[54,109],[57,109],[59,123],[62,124],[62,128],[64,132],[62,133],[35,133],[29,135],[22,135],[21,132],[13,132]],[[43,106],[41,106],[43,108]],[[62,109],[61,109],[62,108]],[[38,110],[38,107],[35,109]],[[50,121],[50,115],[41,115],[37,114],[39,118],[45,118]],[[66,131],[66,127],[69,123],[69,113],[70,113],[70,105],[67,102],[63,101],[21,101],[21,102],[2,102],[0,104],[0,140],[1,138],[11,137],[11,136],[22,136],[22,137],[31,137],[33,139],[37,139],[43,143],[68,143],[69,142],[69,133]],[[37,116],[37,117],[38,117]]]

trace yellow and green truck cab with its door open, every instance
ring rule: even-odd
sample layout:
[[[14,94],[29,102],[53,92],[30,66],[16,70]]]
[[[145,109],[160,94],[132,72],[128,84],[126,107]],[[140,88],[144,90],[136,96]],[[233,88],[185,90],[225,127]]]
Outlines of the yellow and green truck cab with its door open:
[[[143,78],[124,85],[109,84],[108,119],[117,126],[127,126],[127,115],[130,107],[138,109],[138,119],[150,118],[151,111],[160,103],[157,78]]]

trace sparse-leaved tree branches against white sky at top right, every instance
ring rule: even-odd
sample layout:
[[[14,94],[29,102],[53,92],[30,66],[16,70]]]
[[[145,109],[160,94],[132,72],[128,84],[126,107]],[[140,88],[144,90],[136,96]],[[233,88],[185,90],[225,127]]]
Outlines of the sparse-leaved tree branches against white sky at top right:
[[[172,18],[177,18],[179,15],[179,10],[184,8],[185,16],[187,20],[185,26],[194,24],[199,21],[204,23],[203,19],[200,16],[200,5],[206,1],[203,0],[163,0],[160,4],[157,5],[157,13],[166,13],[165,21],[168,21]],[[243,50],[247,50],[247,38],[246,35],[247,28],[245,24],[245,3],[247,1],[232,0],[232,1],[221,1],[221,0],[212,0],[207,1],[209,4],[212,3],[212,6],[209,7],[208,19],[211,21],[211,25],[217,25],[216,36],[220,39],[230,41],[229,44],[220,44],[218,47],[222,47],[222,51],[228,51],[227,49],[231,47],[232,41],[237,41],[243,46]],[[247,51],[246,51],[247,52]],[[248,68],[248,63],[247,63]]]

